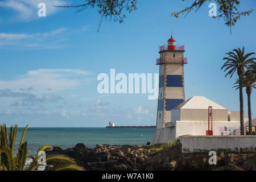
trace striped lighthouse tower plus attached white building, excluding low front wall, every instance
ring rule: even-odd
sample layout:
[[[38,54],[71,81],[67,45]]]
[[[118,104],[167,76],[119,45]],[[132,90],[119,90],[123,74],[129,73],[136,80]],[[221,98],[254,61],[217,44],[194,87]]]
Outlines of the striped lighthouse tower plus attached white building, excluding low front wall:
[[[168,46],[160,47],[160,59],[156,61],[159,65],[159,98],[156,131],[151,144],[173,142],[184,135],[205,136],[209,106],[212,106],[214,136],[240,135],[240,111],[228,111],[203,96],[193,96],[185,101],[184,64],[187,64],[187,59],[183,55],[184,46],[176,47],[175,44],[171,37]],[[248,119],[245,119],[244,126],[246,132]],[[253,126],[255,132],[255,118]],[[256,146],[256,140],[252,141],[255,144],[249,146]]]

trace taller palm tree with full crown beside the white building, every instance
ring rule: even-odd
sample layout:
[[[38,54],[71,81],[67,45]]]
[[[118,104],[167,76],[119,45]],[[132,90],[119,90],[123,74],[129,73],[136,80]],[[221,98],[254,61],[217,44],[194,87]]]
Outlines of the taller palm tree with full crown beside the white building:
[[[256,60],[255,58],[248,59],[249,56],[254,55],[254,52],[245,54],[245,47],[238,49],[233,49],[234,52],[226,53],[228,57],[224,57],[223,60],[227,60],[224,65],[221,67],[221,70],[225,68],[224,72],[226,73],[225,77],[230,75],[232,78],[234,72],[237,71],[238,82],[239,82],[239,95],[240,95],[240,133],[241,135],[245,134],[245,129],[243,127],[243,89],[242,89],[242,78],[245,73],[245,68],[248,68],[251,63]]]

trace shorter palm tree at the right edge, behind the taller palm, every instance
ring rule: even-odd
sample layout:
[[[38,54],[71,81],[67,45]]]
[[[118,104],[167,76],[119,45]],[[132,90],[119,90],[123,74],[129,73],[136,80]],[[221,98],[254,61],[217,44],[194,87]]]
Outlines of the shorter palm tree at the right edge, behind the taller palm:
[[[247,104],[248,104],[248,122],[249,122],[249,135],[253,132],[253,124],[251,123],[251,91],[252,88],[256,88],[256,62],[249,65],[249,69],[245,72],[245,77],[242,78],[242,86],[246,87]],[[234,83],[234,88],[239,88],[239,82]]]

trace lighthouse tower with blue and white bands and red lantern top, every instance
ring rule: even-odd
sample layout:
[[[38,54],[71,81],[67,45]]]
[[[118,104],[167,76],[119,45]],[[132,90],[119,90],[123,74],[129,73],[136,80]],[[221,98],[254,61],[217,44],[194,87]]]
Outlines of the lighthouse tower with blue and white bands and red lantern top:
[[[164,127],[171,121],[171,110],[185,100],[184,93],[184,46],[176,46],[176,40],[171,38],[168,44],[160,46],[159,65],[159,96],[156,129]]]

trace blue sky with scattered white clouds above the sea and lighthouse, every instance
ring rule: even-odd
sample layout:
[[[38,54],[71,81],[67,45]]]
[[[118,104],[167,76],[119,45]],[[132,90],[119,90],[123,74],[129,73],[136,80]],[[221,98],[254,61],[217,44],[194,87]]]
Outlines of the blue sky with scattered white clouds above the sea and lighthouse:
[[[46,3],[46,17],[38,4]],[[100,73],[159,73],[159,46],[172,35],[185,46],[185,100],[204,96],[239,111],[237,79],[220,70],[226,52],[245,47],[256,51],[256,14],[242,17],[236,26],[208,15],[209,2],[197,13],[180,18],[173,11],[192,1],[138,0],[138,10],[127,13],[124,23],[104,20],[95,9],[76,13],[53,5],[79,5],[81,0],[0,1],[0,123],[24,127],[105,127],[155,125],[157,100],[148,93],[100,94]],[[242,1],[241,10],[256,8]],[[255,57],[255,56],[254,56]],[[245,117],[247,95],[243,89]],[[255,90],[251,111],[256,117]]]

